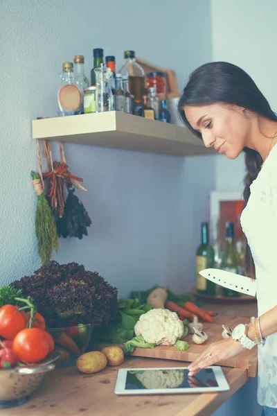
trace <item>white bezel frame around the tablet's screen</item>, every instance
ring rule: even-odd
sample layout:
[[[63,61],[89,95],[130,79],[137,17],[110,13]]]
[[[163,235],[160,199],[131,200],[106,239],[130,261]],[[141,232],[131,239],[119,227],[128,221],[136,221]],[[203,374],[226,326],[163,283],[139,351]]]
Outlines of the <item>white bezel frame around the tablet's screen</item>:
[[[128,371],[141,370],[187,370],[188,367],[154,367],[154,368],[120,368],[116,379],[116,387],[114,392],[116,395],[177,395],[181,393],[208,393],[208,392],[225,392],[230,390],[230,386],[226,381],[222,368],[218,365],[211,365],[217,381],[217,387],[195,387],[195,388],[165,388],[165,389],[143,389],[143,390],[125,390],[126,378]]]

